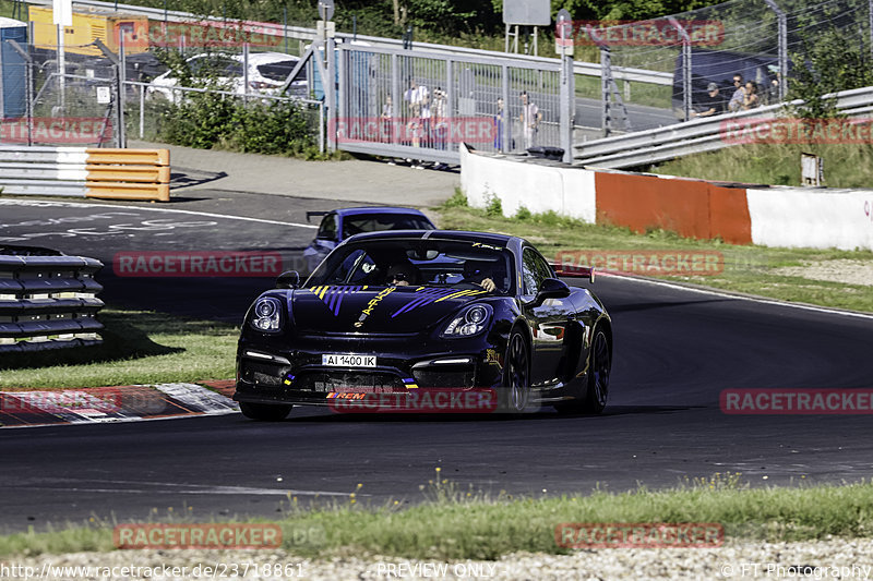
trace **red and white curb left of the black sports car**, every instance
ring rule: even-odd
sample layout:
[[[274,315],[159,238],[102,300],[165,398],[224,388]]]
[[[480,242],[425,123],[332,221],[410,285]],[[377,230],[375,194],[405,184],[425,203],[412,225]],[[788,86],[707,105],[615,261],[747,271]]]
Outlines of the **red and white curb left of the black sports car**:
[[[0,427],[139,422],[237,413],[234,382],[0,391]]]

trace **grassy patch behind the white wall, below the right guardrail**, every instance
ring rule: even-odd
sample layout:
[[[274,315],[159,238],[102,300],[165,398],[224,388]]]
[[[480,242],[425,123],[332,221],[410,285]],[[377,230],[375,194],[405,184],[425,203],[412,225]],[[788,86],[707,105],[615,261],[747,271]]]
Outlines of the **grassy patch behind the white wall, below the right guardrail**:
[[[824,159],[825,184],[830,187],[870,187],[873,183],[873,144],[737,145],[685,156],[647,171],[703,180],[800,185],[801,152]]]

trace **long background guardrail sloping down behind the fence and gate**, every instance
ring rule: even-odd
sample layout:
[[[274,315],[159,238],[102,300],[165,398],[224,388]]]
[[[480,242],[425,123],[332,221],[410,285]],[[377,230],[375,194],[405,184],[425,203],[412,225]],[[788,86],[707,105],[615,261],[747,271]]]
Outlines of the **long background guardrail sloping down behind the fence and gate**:
[[[37,5],[51,5],[50,0],[26,0],[28,4],[37,4]],[[93,7],[101,10],[115,10],[115,11],[122,11],[128,12],[131,14],[141,14],[144,16],[148,16],[152,20],[156,21],[164,21],[167,22],[216,22],[216,23],[235,23],[240,24],[244,29],[248,29],[253,33],[266,35],[266,36],[288,36],[292,38],[298,38],[300,40],[312,41],[315,38],[319,38],[318,31],[315,28],[306,28],[302,26],[285,26],[283,24],[273,23],[273,22],[250,22],[250,21],[239,21],[235,19],[223,19],[220,16],[196,16],[190,12],[181,12],[178,10],[164,10],[159,8],[148,8],[148,7],[137,7],[132,4],[120,4],[117,2],[99,2],[97,0],[75,0],[76,4],[85,5],[85,7]],[[370,44],[374,47],[382,47],[382,48],[404,48],[404,43],[402,39],[396,38],[383,38],[379,36],[364,36],[364,35],[351,35],[348,33],[336,33],[336,38],[343,40],[344,43],[350,43],[352,40],[359,41],[361,44]],[[465,48],[465,47],[452,47],[447,45],[431,45],[429,43],[415,43],[412,45],[412,51],[415,49],[427,50],[429,52],[441,52],[444,55],[454,55],[454,56],[479,56],[479,57],[498,57],[502,56],[505,57],[506,52],[500,52],[494,50],[482,50],[482,49],[475,49],[475,48]],[[546,57],[533,57],[529,55],[515,55],[512,53],[512,58],[519,59],[523,61],[528,61],[531,63],[557,63],[559,62],[558,59],[549,59]],[[600,77],[601,68],[600,63],[596,62],[582,62],[575,61],[573,63],[573,72],[575,74],[586,75],[586,76],[596,76]],[[634,69],[631,66],[612,66],[612,76],[615,80],[621,81],[635,81],[639,83],[650,83],[655,85],[672,85],[673,84],[673,74],[661,72],[661,71],[649,71],[646,69]]]

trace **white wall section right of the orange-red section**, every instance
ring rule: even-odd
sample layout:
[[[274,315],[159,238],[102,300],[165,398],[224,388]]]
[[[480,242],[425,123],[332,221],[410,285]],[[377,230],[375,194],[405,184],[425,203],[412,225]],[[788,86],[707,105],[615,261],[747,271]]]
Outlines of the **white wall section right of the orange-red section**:
[[[768,187],[745,195],[755,244],[873,250],[873,191]]]

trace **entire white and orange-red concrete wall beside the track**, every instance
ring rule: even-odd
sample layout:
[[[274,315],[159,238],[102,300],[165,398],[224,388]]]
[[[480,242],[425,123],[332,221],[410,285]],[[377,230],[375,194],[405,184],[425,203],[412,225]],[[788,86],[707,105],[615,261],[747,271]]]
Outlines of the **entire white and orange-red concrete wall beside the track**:
[[[873,250],[873,190],[746,187],[672,175],[594,170],[462,147],[461,187],[474,207],[501,203],[637,232],[661,228],[732,244]]]

